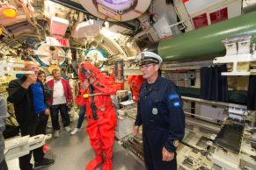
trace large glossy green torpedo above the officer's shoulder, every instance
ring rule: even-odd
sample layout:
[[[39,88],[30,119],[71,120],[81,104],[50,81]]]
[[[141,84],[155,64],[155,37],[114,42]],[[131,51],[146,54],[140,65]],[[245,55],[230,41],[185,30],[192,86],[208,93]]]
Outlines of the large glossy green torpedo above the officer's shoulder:
[[[164,61],[214,58],[225,54],[222,40],[241,34],[253,35],[256,42],[256,11],[182,33],[146,46],[143,51],[159,54]]]

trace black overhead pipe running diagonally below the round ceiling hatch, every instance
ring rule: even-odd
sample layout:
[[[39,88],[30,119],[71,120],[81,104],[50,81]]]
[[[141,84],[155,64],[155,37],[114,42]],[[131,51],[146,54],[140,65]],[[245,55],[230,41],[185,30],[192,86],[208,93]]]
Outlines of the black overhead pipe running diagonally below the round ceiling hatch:
[[[91,13],[86,11],[81,4],[77,4],[77,3],[73,2],[73,1],[69,1],[69,0],[50,0],[50,1],[52,1],[52,2],[54,2],[56,4],[62,4],[63,6],[68,7],[70,9],[73,9],[73,10],[81,11],[81,12],[83,12],[86,15],[93,16]],[[95,16],[93,16],[93,17],[97,18]],[[129,30],[135,31],[135,26],[134,25],[129,25],[128,23],[113,22],[113,21],[107,21],[107,22],[112,23],[113,25],[119,25],[119,26],[122,26],[124,28],[129,29]]]

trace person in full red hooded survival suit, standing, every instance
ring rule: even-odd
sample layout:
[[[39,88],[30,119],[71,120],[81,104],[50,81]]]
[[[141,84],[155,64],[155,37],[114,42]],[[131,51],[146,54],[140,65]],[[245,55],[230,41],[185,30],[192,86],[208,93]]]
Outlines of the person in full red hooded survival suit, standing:
[[[77,100],[82,100],[86,104],[88,122],[86,131],[90,136],[90,144],[96,155],[96,158],[92,159],[85,169],[92,170],[99,166],[103,161],[104,152],[102,169],[111,170],[116,116],[110,96],[114,95],[117,90],[113,80],[105,74],[101,74],[99,69],[92,66],[91,63],[84,61],[79,64],[78,68],[81,95],[85,94],[89,97],[85,99],[78,97]],[[96,96],[90,96],[92,94]],[[77,101],[77,103],[80,102]]]

